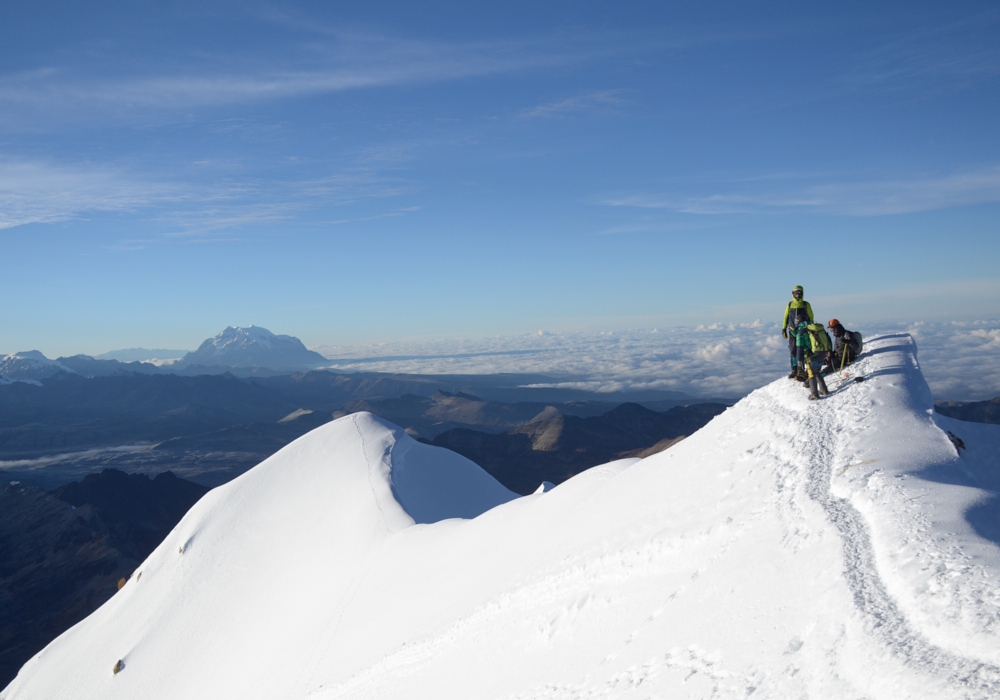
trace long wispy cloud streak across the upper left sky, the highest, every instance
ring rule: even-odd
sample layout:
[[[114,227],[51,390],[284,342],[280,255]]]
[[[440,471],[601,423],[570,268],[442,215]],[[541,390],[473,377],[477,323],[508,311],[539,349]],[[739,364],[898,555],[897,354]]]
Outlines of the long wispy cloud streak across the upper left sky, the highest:
[[[340,33],[280,60],[203,59],[163,74],[141,67],[81,75],[49,66],[0,77],[0,124],[87,117],[128,120],[152,113],[252,103],[363,88],[433,83],[569,64],[588,52],[566,42],[441,43]],[[138,73],[138,75],[137,75]]]

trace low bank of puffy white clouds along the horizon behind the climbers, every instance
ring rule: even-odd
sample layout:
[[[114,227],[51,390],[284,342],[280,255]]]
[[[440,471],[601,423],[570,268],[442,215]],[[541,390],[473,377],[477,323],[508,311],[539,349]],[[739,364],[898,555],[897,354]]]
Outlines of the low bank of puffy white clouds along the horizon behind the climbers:
[[[1000,321],[851,326],[865,337],[911,333],[934,397],[1000,396]],[[314,348],[331,367],[414,374],[541,373],[554,386],[616,391],[665,389],[738,397],[788,371],[777,324],[609,333],[547,333]],[[550,386],[552,386],[550,385]]]

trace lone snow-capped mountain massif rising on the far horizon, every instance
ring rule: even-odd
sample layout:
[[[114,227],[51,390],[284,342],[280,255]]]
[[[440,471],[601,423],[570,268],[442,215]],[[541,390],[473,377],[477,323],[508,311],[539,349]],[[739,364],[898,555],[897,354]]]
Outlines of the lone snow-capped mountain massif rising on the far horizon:
[[[181,359],[176,366],[268,367],[310,369],[326,363],[318,352],[308,350],[290,335],[275,335],[266,328],[227,327],[214,338]]]

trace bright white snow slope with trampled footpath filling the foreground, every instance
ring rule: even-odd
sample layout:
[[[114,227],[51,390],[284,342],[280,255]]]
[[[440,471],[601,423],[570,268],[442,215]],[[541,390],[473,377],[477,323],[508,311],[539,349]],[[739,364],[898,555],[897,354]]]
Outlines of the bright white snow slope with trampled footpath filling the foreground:
[[[0,698],[998,697],[969,521],[1000,433],[959,456],[912,339],[867,345],[823,401],[781,379],[523,498],[342,418],[210,492]]]

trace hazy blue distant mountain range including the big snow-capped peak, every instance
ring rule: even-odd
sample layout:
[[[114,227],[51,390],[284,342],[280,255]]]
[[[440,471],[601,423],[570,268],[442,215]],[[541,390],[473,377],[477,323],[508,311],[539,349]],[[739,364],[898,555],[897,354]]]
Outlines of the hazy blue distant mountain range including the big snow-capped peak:
[[[44,488],[105,468],[172,470],[216,486],[346,413],[371,411],[433,440],[455,429],[503,433],[553,411],[594,417],[627,401],[654,411],[729,403],[675,391],[537,386],[558,381],[538,374],[307,369],[323,361],[298,339],[255,326],[227,328],[162,367],[87,355],[50,360],[37,351],[8,355],[0,361],[0,471]]]

